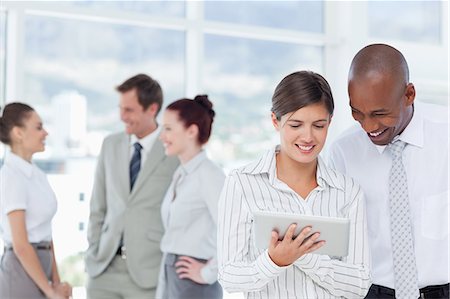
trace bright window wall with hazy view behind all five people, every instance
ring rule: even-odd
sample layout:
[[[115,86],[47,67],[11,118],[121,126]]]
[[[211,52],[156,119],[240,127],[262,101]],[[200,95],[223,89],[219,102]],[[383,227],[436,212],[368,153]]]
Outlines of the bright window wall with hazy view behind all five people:
[[[321,73],[333,88],[328,144],[354,125],[347,72],[369,43],[401,50],[416,99],[448,107],[448,33],[447,1],[1,1],[0,105],[29,103],[49,131],[35,161],[58,197],[57,260],[75,298],[96,158],[123,130],[122,81],[151,75],[165,105],[208,94],[217,117],[207,151],[228,172],[277,143],[271,96],[293,71]]]

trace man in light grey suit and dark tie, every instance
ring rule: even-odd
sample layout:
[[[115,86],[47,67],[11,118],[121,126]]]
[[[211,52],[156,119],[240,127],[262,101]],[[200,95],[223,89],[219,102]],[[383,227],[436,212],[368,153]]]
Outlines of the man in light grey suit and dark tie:
[[[126,132],[105,138],[90,203],[89,299],[154,298],[163,234],[160,206],[178,166],[166,157],[156,116],[162,90],[147,75],[117,87]]]

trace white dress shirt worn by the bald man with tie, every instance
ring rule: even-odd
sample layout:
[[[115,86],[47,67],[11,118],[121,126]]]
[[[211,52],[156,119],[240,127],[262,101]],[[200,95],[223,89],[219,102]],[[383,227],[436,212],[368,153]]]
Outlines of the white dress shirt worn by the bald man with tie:
[[[415,104],[413,118],[398,136],[407,145],[403,165],[419,288],[449,282],[448,115],[444,107]],[[358,125],[336,140],[330,166],[353,177],[363,188],[372,252],[373,283],[394,289],[389,171],[386,146],[376,146]]]

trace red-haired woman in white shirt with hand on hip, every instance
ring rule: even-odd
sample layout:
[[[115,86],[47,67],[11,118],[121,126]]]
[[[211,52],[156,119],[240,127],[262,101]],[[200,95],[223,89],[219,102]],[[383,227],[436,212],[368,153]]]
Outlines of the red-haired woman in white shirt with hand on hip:
[[[164,198],[165,233],[158,297],[222,298],[217,282],[217,205],[225,175],[203,146],[214,118],[207,96],[170,104],[163,117],[161,140],[166,154],[181,164]]]

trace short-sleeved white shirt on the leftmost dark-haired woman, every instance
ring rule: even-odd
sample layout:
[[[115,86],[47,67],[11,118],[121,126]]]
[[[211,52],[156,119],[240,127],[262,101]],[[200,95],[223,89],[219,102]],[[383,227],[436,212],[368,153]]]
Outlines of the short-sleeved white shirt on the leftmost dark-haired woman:
[[[25,211],[30,243],[51,241],[56,205],[45,173],[8,151],[0,170],[0,233],[5,245],[12,244],[8,214],[16,210]]]

